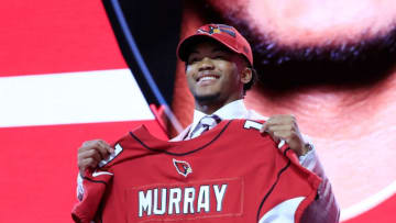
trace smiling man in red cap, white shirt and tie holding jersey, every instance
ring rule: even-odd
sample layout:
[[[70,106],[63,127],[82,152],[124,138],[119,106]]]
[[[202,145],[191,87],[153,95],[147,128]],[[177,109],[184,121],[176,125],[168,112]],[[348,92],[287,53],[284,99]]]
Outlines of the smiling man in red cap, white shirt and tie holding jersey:
[[[208,24],[183,40],[177,49],[186,65],[186,78],[195,98],[194,122],[172,141],[198,137],[220,120],[252,119],[265,120],[243,104],[245,91],[255,80],[253,55],[248,41],[232,26]],[[204,120],[215,119],[213,125]],[[323,174],[311,144],[302,138],[293,115],[274,115],[266,120],[262,134],[270,134],[275,142],[285,141],[298,155],[302,166],[322,178],[318,199],[302,215],[302,222],[338,222],[339,208],[331,192],[329,180]],[[113,153],[103,141],[84,143],[78,149],[80,175],[87,168],[96,168],[98,163]],[[82,187],[79,183],[79,198]],[[282,213],[279,213],[282,215]]]

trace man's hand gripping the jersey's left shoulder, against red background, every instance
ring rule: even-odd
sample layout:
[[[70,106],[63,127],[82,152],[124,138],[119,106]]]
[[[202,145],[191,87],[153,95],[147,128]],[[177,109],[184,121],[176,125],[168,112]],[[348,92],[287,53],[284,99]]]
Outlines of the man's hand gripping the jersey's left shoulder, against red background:
[[[114,149],[101,140],[86,141],[78,148],[77,166],[81,177],[87,168],[96,168],[99,161],[106,159]]]

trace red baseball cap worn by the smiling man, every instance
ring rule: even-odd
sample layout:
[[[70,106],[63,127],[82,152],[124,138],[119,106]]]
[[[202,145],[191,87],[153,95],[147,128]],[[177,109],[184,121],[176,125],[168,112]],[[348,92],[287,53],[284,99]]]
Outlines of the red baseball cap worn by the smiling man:
[[[253,54],[249,42],[237,29],[224,24],[206,24],[200,26],[195,34],[186,36],[177,46],[178,57],[186,62],[191,44],[202,38],[215,40],[237,54],[241,54],[253,67]]]

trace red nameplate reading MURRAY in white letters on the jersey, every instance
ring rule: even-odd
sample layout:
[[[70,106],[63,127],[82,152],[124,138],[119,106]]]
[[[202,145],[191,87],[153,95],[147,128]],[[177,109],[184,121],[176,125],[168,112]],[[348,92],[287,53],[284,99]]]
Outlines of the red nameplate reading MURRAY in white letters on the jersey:
[[[241,214],[243,183],[241,179],[222,179],[183,186],[152,186],[133,189],[138,201],[134,218],[175,220]],[[132,192],[132,191],[131,191]],[[138,198],[138,199],[136,199]],[[134,202],[133,202],[134,203]],[[138,204],[138,205],[136,205]]]

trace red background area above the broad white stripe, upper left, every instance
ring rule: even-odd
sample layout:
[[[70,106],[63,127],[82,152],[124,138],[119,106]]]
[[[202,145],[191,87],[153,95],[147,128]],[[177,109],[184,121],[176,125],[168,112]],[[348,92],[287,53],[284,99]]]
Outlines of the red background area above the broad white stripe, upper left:
[[[0,76],[127,68],[100,0],[3,1]]]

